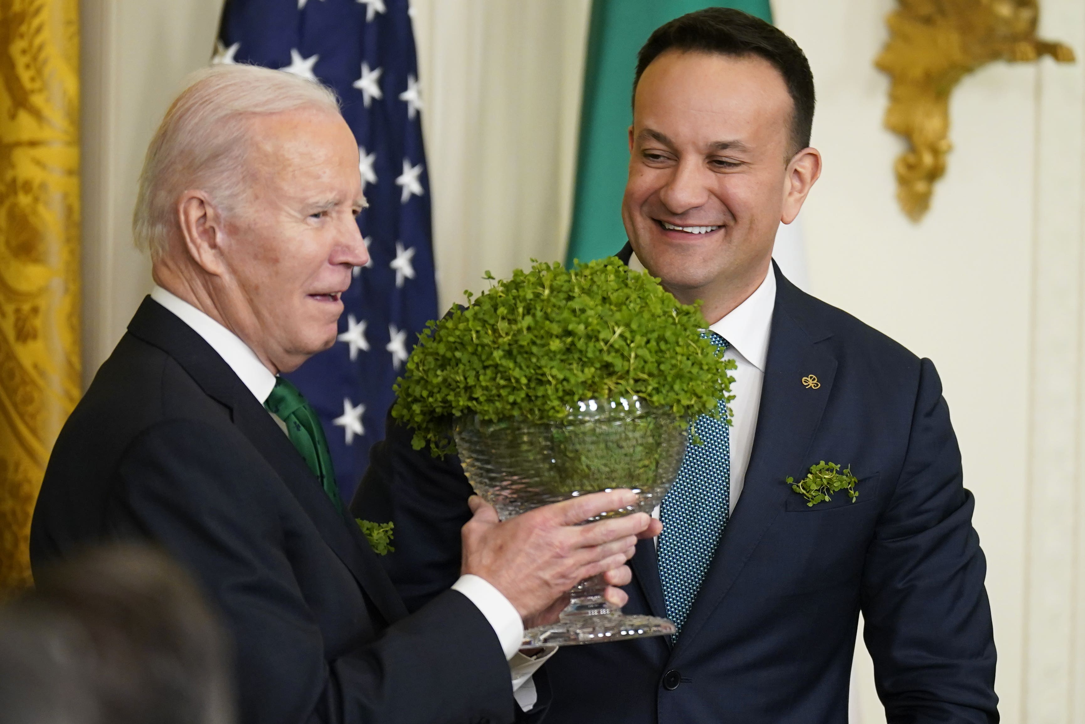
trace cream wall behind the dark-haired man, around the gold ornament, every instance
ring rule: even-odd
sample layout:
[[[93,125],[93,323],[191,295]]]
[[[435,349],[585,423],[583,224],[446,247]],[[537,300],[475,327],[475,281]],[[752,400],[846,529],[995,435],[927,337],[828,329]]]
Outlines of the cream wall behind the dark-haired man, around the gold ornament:
[[[1085,721],[1085,3],[1041,3],[1042,35],[1076,65],[999,63],[960,84],[948,172],[920,224],[895,204],[902,144],[881,128],[888,80],[871,64],[894,4],[773,2],[819,94],[812,291],[942,374],[987,556],[1003,721]],[[884,721],[857,661],[864,724]]]

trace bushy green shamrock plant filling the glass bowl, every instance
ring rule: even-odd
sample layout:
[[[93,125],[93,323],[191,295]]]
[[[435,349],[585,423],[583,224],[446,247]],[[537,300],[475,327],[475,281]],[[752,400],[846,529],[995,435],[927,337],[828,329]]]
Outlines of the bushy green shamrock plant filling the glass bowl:
[[[412,445],[454,452],[457,418],[558,422],[578,401],[638,396],[679,416],[720,416],[735,361],[702,336],[699,306],[616,258],[536,262],[431,321],[396,382],[392,416]],[[730,410],[725,416],[730,417]]]

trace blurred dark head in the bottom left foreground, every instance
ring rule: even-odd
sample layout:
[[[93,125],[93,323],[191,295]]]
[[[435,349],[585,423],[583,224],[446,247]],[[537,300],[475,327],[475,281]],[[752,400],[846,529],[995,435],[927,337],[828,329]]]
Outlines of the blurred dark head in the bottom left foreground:
[[[224,634],[186,571],[114,545],[0,608],[0,724],[228,724]]]

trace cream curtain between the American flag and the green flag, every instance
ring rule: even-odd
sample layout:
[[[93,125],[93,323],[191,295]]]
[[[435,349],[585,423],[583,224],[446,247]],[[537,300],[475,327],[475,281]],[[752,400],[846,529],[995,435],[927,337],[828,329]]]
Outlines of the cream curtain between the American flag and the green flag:
[[[565,255],[590,0],[413,0],[441,312]]]

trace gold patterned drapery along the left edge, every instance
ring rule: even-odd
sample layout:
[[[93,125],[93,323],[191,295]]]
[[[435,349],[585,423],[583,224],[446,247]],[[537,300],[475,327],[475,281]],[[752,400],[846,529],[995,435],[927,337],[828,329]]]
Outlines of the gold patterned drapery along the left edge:
[[[79,392],[78,0],[0,0],[0,594]]]

